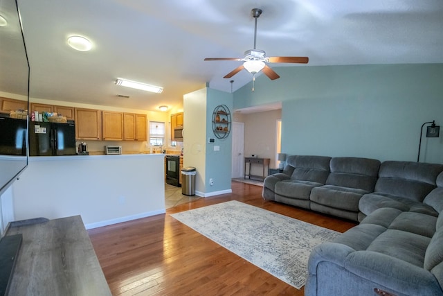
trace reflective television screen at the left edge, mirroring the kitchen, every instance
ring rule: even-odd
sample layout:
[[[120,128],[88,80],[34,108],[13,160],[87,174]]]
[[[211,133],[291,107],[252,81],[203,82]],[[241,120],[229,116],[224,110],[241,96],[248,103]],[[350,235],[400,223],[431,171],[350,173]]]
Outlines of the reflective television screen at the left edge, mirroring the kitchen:
[[[29,63],[16,0],[0,1],[0,120],[21,111],[7,110],[8,99],[29,105]],[[28,165],[27,126],[26,113],[0,123],[0,194]]]

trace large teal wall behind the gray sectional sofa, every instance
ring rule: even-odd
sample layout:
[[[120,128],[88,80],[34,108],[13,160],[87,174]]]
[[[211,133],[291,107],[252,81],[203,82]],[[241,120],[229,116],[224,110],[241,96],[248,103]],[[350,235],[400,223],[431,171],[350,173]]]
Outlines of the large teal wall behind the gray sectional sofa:
[[[282,101],[282,151],[416,161],[420,127],[443,125],[443,64],[278,67],[234,94],[234,108]],[[422,162],[443,163],[439,138]]]

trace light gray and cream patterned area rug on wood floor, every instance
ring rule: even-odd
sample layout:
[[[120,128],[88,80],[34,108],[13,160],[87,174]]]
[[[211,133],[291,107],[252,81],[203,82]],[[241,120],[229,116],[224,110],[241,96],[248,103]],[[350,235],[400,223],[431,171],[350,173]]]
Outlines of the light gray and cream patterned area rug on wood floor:
[[[298,289],[312,248],[340,234],[235,200],[171,216]]]

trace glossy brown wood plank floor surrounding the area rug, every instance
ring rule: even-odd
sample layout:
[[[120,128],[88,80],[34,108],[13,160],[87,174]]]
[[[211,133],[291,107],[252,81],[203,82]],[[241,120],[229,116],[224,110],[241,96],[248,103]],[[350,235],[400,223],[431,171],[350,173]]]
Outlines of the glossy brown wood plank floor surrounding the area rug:
[[[262,187],[232,183],[233,193],[180,204],[166,214],[89,230],[113,295],[304,295],[169,214],[238,200],[345,232],[356,223],[263,200]]]

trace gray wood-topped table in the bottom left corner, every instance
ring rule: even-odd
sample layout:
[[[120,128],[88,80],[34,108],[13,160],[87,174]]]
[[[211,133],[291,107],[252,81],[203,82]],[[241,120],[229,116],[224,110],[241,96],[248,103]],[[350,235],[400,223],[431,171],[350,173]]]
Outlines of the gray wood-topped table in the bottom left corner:
[[[9,295],[111,295],[80,216],[18,224],[23,241]]]

